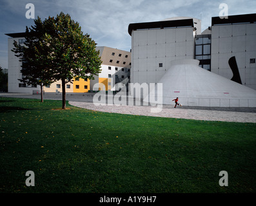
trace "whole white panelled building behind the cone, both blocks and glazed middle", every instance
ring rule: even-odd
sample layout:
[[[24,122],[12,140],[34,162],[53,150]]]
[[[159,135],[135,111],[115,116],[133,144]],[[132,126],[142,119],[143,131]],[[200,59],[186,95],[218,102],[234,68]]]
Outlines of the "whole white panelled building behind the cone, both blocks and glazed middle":
[[[197,59],[202,68],[256,89],[256,14],[212,17],[202,33],[201,21],[192,17],[134,23],[128,33],[132,83],[157,83],[172,61]]]

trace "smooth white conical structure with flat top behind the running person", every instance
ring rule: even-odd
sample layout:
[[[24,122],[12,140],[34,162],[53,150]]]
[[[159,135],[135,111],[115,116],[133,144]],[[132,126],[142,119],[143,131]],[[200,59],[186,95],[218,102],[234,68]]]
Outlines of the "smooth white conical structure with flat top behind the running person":
[[[179,103],[184,106],[256,107],[256,91],[199,67],[195,59],[176,60],[157,83],[162,83],[162,94],[157,88],[150,98],[162,98],[162,104]],[[144,102],[148,102],[148,96]]]

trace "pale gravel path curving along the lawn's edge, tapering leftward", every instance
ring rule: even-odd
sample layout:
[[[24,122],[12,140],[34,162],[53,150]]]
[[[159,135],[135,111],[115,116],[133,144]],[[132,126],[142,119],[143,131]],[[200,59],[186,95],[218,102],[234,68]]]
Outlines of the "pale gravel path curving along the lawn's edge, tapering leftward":
[[[72,102],[69,104],[79,108],[103,111],[108,113],[122,113],[128,115],[144,115],[152,117],[186,118],[193,120],[223,121],[223,122],[253,122],[256,123],[256,113],[239,111],[217,111],[206,109],[162,108],[161,112],[152,113],[151,106],[96,106],[92,102]]]

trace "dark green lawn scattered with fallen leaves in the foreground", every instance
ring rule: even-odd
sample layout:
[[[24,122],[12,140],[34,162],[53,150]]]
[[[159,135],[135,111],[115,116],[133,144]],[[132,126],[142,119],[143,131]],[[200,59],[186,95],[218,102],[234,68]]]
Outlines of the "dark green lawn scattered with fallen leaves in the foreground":
[[[0,98],[0,192],[256,191],[256,124],[61,105]],[[26,186],[26,171],[35,187]]]

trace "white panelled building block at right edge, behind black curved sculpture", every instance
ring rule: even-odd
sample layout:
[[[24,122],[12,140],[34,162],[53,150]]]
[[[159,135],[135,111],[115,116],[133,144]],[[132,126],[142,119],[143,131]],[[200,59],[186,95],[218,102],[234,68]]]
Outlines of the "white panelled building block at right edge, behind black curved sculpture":
[[[235,57],[241,83],[256,89],[256,14],[212,18],[211,71],[231,79],[228,61]]]

